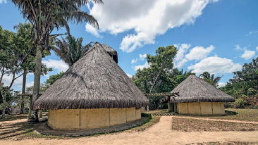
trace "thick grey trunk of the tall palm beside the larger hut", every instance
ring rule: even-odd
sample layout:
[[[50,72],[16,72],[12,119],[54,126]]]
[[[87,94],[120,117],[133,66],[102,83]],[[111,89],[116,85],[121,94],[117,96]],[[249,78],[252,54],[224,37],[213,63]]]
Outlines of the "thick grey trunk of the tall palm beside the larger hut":
[[[36,60],[35,60],[35,73],[34,73],[34,88],[32,96],[32,106],[35,101],[39,98],[39,87],[40,87],[40,75],[42,65],[42,46],[37,44]],[[37,111],[32,111],[29,122],[39,122]]]

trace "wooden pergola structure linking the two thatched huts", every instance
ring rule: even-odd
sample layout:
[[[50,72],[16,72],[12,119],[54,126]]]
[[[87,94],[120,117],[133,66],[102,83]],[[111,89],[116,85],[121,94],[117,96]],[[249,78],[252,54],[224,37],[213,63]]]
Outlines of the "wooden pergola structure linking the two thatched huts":
[[[166,93],[144,93],[147,98],[149,97],[159,97],[164,96],[168,99],[168,112],[174,112],[176,107],[173,103],[170,103],[170,96],[173,96],[174,94],[178,94],[179,92],[166,92]]]

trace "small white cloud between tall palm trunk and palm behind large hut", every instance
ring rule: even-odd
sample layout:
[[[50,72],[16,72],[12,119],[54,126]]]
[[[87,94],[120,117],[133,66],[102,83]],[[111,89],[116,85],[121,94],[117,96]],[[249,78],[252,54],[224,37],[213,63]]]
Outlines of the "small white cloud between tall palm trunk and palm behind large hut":
[[[62,60],[57,61],[57,60],[49,59],[48,61],[46,60],[42,61],[42,63],[45,63],[47,65],[47,68],[57,69],[60,72],[61,71],[65,72],[69,68],[68,65],[64,63]]]

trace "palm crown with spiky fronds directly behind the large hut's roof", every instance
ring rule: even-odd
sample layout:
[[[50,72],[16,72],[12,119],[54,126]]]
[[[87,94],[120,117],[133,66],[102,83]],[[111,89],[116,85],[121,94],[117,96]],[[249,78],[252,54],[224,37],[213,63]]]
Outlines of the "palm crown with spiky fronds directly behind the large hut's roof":
[[[82,56],[84,56],[87,50],[90,49],[90,46],[92,46],[91,44],[93,42],[82,46],[82,37],[75,39],[75,37],[68,34],[65,39],[63,39],[63,37],[62,40],[56,38],[55,43],[56,48],[54,49],[54,52],[56,53],[56,56],[59,56],[59,58],[67,63],[70,68],[73,63],[75,63],[80,58],[82,58]]]

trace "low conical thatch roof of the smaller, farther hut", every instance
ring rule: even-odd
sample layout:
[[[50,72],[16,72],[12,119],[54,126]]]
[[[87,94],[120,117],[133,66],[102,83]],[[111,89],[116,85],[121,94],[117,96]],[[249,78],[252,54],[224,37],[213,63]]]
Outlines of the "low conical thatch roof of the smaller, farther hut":
[[[233,102],[235,99],[213,85],[205,82],[201,78],[190,75],[183,82],[172,90],[179,92],[170,97],[164,97],[161,103],[166,103],[170,99],[171,103],[190,103],[190,102]]]

